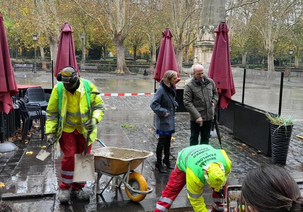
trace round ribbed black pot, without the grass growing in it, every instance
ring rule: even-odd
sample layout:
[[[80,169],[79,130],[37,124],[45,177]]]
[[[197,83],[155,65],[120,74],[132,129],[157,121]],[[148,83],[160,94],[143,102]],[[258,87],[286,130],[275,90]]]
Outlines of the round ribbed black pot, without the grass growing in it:
[[[285,165],[293,125],[279,126],[270,123],[271,160],[275,164]]]

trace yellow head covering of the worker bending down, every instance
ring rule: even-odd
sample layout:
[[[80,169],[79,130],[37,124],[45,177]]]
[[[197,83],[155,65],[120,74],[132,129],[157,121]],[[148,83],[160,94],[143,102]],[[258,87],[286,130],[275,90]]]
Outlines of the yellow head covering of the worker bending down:
[[[204,177],[209,187],[214,188],[215,191],[220,191],[227,181],[223,164],[209,163],[203,168]]]

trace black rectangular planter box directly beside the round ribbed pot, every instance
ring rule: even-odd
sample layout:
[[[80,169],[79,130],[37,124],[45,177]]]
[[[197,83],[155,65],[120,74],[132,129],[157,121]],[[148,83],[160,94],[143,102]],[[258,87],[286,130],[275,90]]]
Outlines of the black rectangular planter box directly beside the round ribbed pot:
[[[271,155],[270,122],[265,114],[255,107],[235,104],[233,134],[251,147]]]

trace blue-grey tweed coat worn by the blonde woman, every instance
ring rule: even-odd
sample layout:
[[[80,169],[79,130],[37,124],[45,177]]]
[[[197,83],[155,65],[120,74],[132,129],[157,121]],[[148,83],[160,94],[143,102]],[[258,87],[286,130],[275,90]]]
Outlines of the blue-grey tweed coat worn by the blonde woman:
[[[178,107],[175,95],[171,92],[171,88],[168,88],[161,81],[154,98],[151,100],[151,109],[156,114],[155,126],[158,130],[175,130],[175,106]],[[166,112],[168,116],[164,117]]]

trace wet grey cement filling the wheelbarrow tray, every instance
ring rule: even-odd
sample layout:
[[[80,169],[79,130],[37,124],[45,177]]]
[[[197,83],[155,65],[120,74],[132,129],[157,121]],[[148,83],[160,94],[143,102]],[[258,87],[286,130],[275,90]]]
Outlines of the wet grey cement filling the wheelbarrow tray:
[[[123,148],[115,148],[115,149],[108,149],[108,148],[100,148],[94,149],[92,154],[95,156],[103,156],[108,158],[119,158],[119,159],[131,159],[131,158],[144,158],[148,155],[146,151],[132,151],[130,149],[123,149]]]

